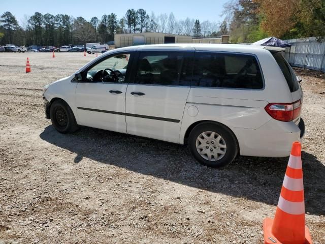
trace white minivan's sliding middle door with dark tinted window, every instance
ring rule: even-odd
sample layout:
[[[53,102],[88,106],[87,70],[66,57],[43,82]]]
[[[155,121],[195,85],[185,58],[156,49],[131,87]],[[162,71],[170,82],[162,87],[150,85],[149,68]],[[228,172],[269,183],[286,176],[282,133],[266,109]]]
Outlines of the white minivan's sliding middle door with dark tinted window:
[[[126,90],[127,133],[179,143],[194,50],[140,51]]]

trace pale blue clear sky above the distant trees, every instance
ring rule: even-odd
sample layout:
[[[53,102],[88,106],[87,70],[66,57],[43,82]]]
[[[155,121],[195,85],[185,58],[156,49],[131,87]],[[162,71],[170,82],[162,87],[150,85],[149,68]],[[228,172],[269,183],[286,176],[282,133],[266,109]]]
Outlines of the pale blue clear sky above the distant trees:
[[[83,17],[90,20],[91,17],[99,19],[104,14],[115,13],[118,18],[125,15],[127,9],[144,9],[150,15],[151,11],[156,15],[160,13],[173,12],[177,19],[185,19],[186,17],[204,20],[221,21],[224,17],[220,14],[223,10],[223,4],[229,0],[106,0],[106,1],[90,1],[90,0],[1,0],[0,14],[6,11],[11,12],[20,24],[24,22],[24,17],[31,16],[35,12],[42,14],[50,13],[68,14],[74,17]],[[112,4],[109,4],[112,3]]]

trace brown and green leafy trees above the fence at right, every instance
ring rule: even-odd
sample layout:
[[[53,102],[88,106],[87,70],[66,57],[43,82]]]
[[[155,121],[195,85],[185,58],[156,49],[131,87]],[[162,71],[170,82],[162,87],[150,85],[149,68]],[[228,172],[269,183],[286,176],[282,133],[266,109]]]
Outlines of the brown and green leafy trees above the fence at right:
[[[325,0],[231,0],[223,15],[232,43],[266,37],[325,39]]]

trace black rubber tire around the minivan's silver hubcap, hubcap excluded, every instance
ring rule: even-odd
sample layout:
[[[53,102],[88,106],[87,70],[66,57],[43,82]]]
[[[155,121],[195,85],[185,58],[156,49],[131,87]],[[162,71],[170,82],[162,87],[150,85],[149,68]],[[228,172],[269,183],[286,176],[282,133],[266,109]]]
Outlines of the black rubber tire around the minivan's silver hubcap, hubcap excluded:
[[[224,140],[224,143],[226,145],[226,148],[222,149],[225,150],[225,154],[223,155],[223,157],[221,157],[220,155],[221,158],[215,161],[210,161],[208,159],[203,158],[203,156],[199,154],[196,146],[197,138],[199,137],[199,135],[203,132],[209,132],[209,131],[219,134]],[[207,144],[207,146],[209,146],[210,148],[209,150],[211,149],[214,150],[212,148],[213,147],[212,145],[213,144],[211,142],[210,144]],[[235,135],[232,133],[232,131],[230,131],[230,129],[226,128],[225,126],[222,126],[217,123],[211,123],[211,122],[203,122],[192,129],[188,137],[188,148],[193,158],[196,159],[199,163],[214,168],[220,168],[230,164],[231,162],[233,162],[233,160],[236,158],[238,154],[237,139]],[[202,149],[202,151],[203,150],[205,149]]]

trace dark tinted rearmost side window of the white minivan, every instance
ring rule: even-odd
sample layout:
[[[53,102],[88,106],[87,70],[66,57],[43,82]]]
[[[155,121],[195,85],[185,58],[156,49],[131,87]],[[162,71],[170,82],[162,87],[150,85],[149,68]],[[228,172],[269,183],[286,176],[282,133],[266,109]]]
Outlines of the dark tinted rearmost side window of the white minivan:
[[[264,85],[253,55],[197,52],[192,86],[262,89]]]

